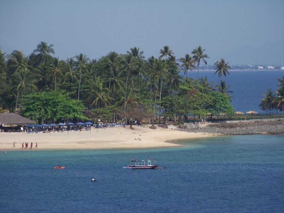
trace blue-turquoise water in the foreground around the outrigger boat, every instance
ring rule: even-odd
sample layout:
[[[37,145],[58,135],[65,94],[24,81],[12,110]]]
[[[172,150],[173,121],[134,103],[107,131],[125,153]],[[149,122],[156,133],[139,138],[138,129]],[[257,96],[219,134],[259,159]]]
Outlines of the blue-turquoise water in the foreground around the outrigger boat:
[[[284,135],[179,143],[163,149],[1,151],[0,212],[283,212]],[[167,169],[122,168],[131,157],[148,156]],[[57,163],[66,169],[53,169]]]

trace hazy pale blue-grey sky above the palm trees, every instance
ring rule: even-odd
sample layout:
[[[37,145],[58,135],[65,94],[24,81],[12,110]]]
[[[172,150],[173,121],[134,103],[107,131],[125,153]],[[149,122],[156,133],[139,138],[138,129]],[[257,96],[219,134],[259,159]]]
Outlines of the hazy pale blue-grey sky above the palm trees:
[[[7,54],[28,56],[45,41],[62,60],[80,53],[99,59],[134,46],[146,58],[159,57],[167,45],[177,58],[202,46],[208,64],[284,61],[283,0],[0,0],[0,20]]]

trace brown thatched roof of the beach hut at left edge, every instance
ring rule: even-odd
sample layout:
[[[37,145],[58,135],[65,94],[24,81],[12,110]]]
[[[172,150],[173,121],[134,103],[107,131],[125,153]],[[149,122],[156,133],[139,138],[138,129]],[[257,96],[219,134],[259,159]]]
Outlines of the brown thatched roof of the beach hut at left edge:
[[[17,126],[34,123],[34,121],[15,113],[0,113],[0,125]]]

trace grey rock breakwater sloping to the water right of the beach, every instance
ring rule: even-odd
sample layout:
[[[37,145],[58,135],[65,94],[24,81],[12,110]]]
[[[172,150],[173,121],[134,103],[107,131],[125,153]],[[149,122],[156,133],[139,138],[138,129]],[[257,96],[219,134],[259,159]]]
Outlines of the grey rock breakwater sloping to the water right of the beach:
[[[209,125],[188,125],[180,128],[180,131],[194,133],[210,133],[220,135],[254,135],[262,133],[284,133],[284,122],[279,121],[255,121],[235,123],[215,123]]]

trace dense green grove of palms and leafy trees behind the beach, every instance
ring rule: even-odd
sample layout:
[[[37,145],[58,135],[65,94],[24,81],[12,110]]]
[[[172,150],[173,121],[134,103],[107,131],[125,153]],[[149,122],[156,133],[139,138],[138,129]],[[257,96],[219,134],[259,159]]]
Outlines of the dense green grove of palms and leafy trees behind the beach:
[[[188,113],[230,113],[230,96],[222,95],[231,92],[229,85],[221,82],[216,94],[207,78],[179,74],[180,68],[187,74],[201,61],[206,64],[204,51],[199,46],[192,56],[176,59],[170,47],[163,46],[159,58],[145,59],[144,52],[133,47],[126,54],[110,52],[99,59],[83,53],[59,59],[52,56],[54,46],[43,41],[28,57],[0,49],[0,107],[38,122],[125,118],[132,124],[148,118],[154,125],[156,117],[159,123],[162,117],[164,122],[176,122],[176,117],[181,122]],[[217,97],[226,106],[212,105]]]

